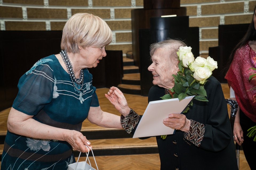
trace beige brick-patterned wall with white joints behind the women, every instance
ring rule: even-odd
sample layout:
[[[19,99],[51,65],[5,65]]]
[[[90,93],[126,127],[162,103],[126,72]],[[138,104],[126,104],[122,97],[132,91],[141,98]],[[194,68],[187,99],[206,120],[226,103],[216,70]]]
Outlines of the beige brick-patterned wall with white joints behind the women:
[[[200,54],[218,45],[218,25],[250,23],[256,0],[181,0],[190,27],[199,27]],[[77,12],[103,18],[113,31],[107,49],[132,50],[131,10],[143,8],[143,0],[0,0],[1,30],[62,30]]]

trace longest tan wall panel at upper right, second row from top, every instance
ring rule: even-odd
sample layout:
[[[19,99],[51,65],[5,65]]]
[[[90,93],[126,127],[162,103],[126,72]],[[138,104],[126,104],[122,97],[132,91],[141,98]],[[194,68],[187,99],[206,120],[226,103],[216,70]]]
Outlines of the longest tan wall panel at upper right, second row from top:
[[[202,5],[202,15],[207,14],[225,14],[243,12],[244,3],[223,3],[215,5]]]

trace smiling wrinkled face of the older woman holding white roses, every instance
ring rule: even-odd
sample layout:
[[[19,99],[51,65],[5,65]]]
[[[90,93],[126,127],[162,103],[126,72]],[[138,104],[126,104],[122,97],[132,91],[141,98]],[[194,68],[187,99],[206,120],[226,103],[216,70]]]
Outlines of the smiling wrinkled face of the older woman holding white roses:
[[[153,84],[171,88],[174,85],[173,74],[177,74],[178,61],[170,58],[170,50],[158,48],[151,57],[152,64],[148,70],[153,74]]]

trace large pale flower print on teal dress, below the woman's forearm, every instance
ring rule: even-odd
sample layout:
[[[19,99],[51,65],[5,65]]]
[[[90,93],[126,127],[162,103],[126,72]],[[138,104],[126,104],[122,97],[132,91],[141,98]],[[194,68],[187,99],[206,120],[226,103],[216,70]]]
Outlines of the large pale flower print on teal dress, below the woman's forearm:
[[[32,139],[32,138],[27,138],[27,146],[30,148],[32,151],[37,151],[42,148],[44,151],[49,151],[50,150],[50,145],[48,140],[37,140],[37,139]]]

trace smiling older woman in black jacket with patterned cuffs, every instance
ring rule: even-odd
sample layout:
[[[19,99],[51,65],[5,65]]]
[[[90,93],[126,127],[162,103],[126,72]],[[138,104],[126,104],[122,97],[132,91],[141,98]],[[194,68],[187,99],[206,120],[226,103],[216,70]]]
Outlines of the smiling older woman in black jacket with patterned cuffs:
[[[169,93],[168,89],[174,86],[172,74],[179,71],[176,52],[180,46],[186,45],[178,40],[151,45],[152,64],[148,70],[152,72],[155,85],[149,91],[149,102],[161,100],[160,97]],[[211,76],[205,90],[209,102],[193,100],[193,106],[187,113],[171,113],[163,120],[163,124],[176,131],[173,135],[167,135],[166,139],[156,136],[162,170],[238,169],[221,84]],[[123,115],[121,124],[125,130],[134,133],[140,116],[128,107],[122,92],[111,87],[106,97]]]

